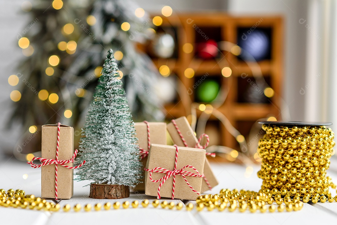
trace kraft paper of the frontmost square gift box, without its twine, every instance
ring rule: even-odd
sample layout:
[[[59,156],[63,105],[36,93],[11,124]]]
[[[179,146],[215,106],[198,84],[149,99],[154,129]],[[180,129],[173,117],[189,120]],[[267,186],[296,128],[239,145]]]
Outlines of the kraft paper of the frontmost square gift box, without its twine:
[[[175,189],[174,198],[175,199],[188,199],[195,200],[201,191],[202,185],[202,174],[204,172],[205,164],[205,153],[204,149],[186,148],[178,147],[178,158],[177,158],[177,170],[182,169],[184,166],[193,166],[199,173],[200,177],[196,176],[186,176],[186,180],[191,185],[191,187],[197,191],[194,192],[186,183],[183,176],[176,175],[175,179]],[[170,171],[174,170],[176,159],[176,147],[168,146],[162,144],[151,144],[150,153],[146,163],[146,168],[152,170],[156,167],[161,167]],[[193,168],[183,169],[188,172],[197,174]],[[159,180],[163,178],[166,173],[153,172],[152,179]],[[150,179],[150,172],[145,171],[145,194],[150,196],[158,196],[158,187],[162,183],[153,182]],[[172,198],[172,188],[173,188],[173,175],[168,178],[160,188],[160,197]]]

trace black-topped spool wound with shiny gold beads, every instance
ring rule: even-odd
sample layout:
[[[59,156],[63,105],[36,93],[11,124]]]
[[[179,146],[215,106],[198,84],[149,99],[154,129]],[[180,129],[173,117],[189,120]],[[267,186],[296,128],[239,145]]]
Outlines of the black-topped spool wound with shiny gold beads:
[[[276,198],[290,197],[303,202],[325,202],[333,198],[327,176],[335,146],[334,132],[326,125],[299,122],[259,121],[266,134],[258,142],[262,158],[257,176],[261,190]]]

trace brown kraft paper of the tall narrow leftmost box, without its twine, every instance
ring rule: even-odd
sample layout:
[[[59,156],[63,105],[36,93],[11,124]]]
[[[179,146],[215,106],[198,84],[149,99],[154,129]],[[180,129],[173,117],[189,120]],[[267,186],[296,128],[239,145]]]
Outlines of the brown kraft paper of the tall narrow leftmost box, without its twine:
[[[57,124],[42,126],[42,158],[55,159],[57,144]],[[58,160],[68,160],[74,154],[74,129],[61,125]],[[65,164],[73,166],[73,163]],[[73,169],[61,165],[57,167],[58,199],[69,199],[73,195]],[[55,198],[55,164],[41,166],[41,197]]]

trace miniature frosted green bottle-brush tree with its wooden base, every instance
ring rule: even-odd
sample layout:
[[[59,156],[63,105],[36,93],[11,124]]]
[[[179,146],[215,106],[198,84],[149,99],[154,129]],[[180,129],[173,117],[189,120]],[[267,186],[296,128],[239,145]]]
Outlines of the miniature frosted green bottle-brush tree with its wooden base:
[[[90,103],[77,160],[86,160],[76,180],[93,181],[92,198],[124,198],[141,179],[142,165],[118,66],[109,50]]]

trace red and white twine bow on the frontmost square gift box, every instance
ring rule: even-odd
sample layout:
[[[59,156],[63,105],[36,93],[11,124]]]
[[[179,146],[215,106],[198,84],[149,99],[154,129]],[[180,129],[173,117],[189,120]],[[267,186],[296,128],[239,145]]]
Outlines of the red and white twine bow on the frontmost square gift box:
[[[169,179],[171,176],[173,176],[173,186],[172,186],[172,199],[174,199],[174,188],[175,188],[175,183],[176,183],[176,175],[180,175],[183,177],[184,181],[186,182],[186,184],[188,185],[188,187],[190,187],[192,189],[192,191],[196,192],[198,195],[200,194],[199,192],[197,192],[196,190],[194,190],[194,188],[188,183],[187,179],[186,179],[186,176],[193,176],[193,177],[199,177],[199,178],[202,178],[204,177],[204,175],[201,175],[199,173],[199,171],[194,168],[193,166],[190,166],[190,165],[186,165],[184,166],[183,168],[181,168],[180,170],[177,170],[177,162],[178,162],[178,146],[177,145],[174,145],[174,147],[176,147],[176,161],[175,161],[175,164],[174,164],[174,170],[168,170],[168,169],[165,169],[165,168],[161,168],[161,167],[155,167],[153,169],[147,169],[147,168],[144,168],[145,171],[148,171],[150,172],[149,174],[149,178],[152,182],[161,182],[159,184],[159,187],[158,187],[158,199],[160,199],[160,188],[161,186],[165,183],[165,181],[167,181],[167,179]],[[192,172],[189,172],[189,171],[185,171],[184,169],[186,168],[192,168],[193,170],[195,170],[196,173],[192,173]],[[166,175],[163,176],[161,179],[159,180],[153,180],[152,179],[152,173],[155,172],[155,173],[165,173]]]

